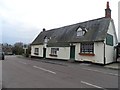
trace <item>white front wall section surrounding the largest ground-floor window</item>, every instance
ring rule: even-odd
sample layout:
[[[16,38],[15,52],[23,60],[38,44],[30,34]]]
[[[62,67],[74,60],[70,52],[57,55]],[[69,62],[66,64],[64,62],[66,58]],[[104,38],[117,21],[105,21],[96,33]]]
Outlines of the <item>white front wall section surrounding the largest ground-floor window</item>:
[[[95,56],[79,55],[79,53],[80,53],[80,43],[76,43],[75,51],[76,51],[75,60],[77,60],[77,61],[91,61],[93,63],[104,64],[104,43],[103,42],[95,42],[94,43],[94,54],[95,54]]]

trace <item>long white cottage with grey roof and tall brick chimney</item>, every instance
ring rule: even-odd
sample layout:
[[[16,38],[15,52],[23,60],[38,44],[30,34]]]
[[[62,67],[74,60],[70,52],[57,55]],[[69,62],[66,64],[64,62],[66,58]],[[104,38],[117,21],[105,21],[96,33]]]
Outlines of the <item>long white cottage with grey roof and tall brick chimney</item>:
[[[107,2],[105,17],[47,31],[43,29],[31,44],[31,57],[105,65],[115,62],[116,44],[115,26]]]

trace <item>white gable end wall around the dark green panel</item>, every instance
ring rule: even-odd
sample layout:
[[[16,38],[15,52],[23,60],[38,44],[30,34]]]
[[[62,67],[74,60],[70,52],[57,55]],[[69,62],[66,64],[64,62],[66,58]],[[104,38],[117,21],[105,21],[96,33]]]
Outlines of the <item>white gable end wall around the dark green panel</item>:
[[[114,26],[112,24],[112,22],[110,22],[109,24],[109,28],[108,28],[108,34],[113,36],[113,46],[110,45],[105,45],[105,56],[106,56],[106,63],[111,63],[113,61],[115,61],[115,50],[114,50],[114,46],[116,46],[116,36],[115,36],[115,31],[114,31]],[[105,43],[106,43],[106,39],[105,39]]]

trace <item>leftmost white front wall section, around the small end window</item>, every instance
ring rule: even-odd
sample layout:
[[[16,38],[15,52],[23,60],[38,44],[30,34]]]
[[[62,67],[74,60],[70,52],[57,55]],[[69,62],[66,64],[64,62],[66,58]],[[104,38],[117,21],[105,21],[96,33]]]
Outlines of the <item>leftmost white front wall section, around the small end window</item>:
[[[34,54],[35,48],[39,48],[39,55]],[[43,57],[43,45],[32,45],[31,46],[31,56]]]

